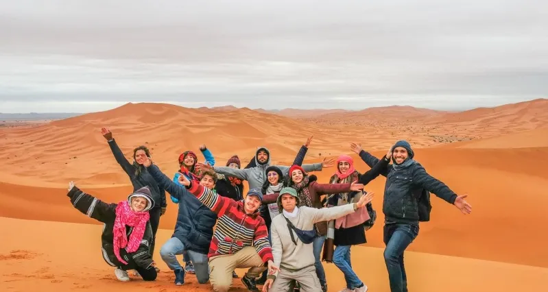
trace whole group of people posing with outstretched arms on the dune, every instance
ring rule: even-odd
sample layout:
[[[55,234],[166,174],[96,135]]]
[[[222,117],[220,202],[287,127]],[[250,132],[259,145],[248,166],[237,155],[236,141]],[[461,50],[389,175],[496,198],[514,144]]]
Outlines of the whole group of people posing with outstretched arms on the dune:
[[[209,281],[214,291],[228,291],[233,278],[239,278],[237,268],[248,269],[241,282],[249,291],[258,292],[257,285],[263,292],[327,291],[322,261],[342,271],[342,291],[367,291],[353,271],[350,250],[366,243],[366,230],[374,224],[374,193],[364,186],[379,175],[386,177],[384,258],[392,292],[407,291],[403,254],[418,235],[419,221],[429,220],[429,193],[464,214],[471,212],[466,195],[456,195],[429,175],[406,141],[396,142],[381,159],[351,143],[350,149],[370,167],[365,173],[347,155],[336,162],[303,165],[312,137],[291,166],[272,165],[270,151],[259,147],[243,169],[238,156],[219,167],[206,145],[200,145],[205,161],[184,151],[171,179],[152,162],[147,147],[136,147],[130,162],[110,130],[102,128],[102,135],[128,174],[133,193],[118,204],[107,204],[70,182],[67,195],[76,209],[105,224],[102,254],[121,281],[130,280],[128,271],[145,281],[156,280],[159,269],[152,256],[167,208],[166,191],[178,206],[178,216],[160,256],[174,271],[174,284],[184,284],[185,274],[195,273],[200,284]],[[329,183],[309,174],[330,167],[335,171]],[[250,188],[245,196],[243,180]],[[184,267],[177,255],[182,255]]]

